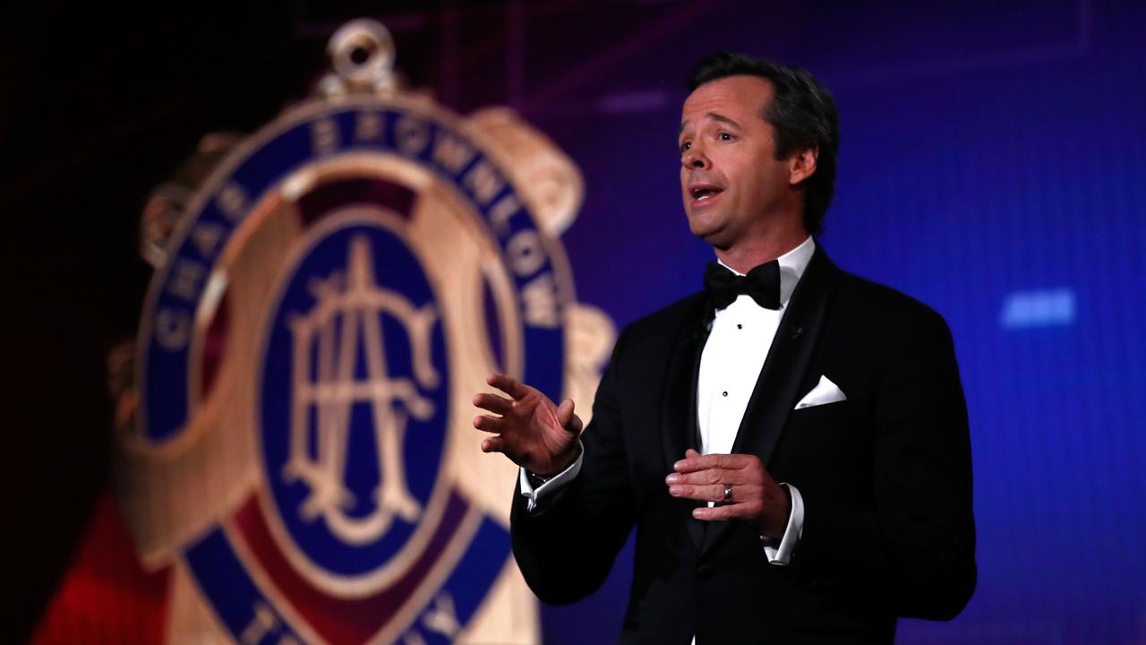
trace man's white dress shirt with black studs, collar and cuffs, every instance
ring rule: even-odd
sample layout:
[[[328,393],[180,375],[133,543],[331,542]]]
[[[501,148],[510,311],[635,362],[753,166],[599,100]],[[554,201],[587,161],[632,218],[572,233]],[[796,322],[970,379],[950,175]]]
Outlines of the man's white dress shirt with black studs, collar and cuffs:
[[[752,296],[740,295],[727,308],[719,310],[713,318],[708,341],[700,355],[700,370],[697,376],[697,419],[700,426],[701,454],[727,454],[732,451],[740,420],[756,387],[756,379],[764,366],[768,351],[772,347],[780,318],[815,250],[816,243],[809,235],[803,243],[777,258],[780,270],[778,310],[764,309],[756,304]],[[743,275],[724,263],[721,265]],[[580,472],[579,453],[568,468],[534,489],[525,468],[521,468],[519,482],[521,495],[527,499],[526,507],[533,511],[543,497],[556,492]],[[792,495],[792,513],[788,515],[784,537],[782,539],[761,537],[764,554],[774,565],[788,564],[803,529],[803,498],[800,491],[788,483],[780,485],[786,487]]]

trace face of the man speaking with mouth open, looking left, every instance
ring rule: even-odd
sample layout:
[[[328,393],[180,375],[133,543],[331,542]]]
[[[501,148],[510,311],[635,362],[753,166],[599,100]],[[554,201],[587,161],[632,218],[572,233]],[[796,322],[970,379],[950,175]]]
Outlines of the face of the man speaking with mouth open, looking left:
[[[719,249],[767,235],[795,199],[763,119],[771,84],[755,76],[706,83],[684,101],[681,191],[689,228]],[[799,208],[799,204],[796,204]]]

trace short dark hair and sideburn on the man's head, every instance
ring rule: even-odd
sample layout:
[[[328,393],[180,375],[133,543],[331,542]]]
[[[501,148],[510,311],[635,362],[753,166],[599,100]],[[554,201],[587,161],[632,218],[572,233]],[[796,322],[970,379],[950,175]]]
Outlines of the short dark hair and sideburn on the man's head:
[[[819,233],[835,191],[840,150],[840,117],[832,93],[807,70],[729,52],[701,59],[689,75],[689,92],[729,76],[759,76],[771,84],[772,100],[761,116],[776,132],[776,158],[807,146],[819,148],[816,171],[803,181],[803,226],[810,234]]]

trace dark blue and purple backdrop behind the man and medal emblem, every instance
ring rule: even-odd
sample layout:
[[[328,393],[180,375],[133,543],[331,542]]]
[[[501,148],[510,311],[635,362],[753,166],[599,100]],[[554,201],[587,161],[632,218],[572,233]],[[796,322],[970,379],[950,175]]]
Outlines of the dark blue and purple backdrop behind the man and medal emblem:
[[[698,288],[711,257],[676,185],[691,63],[728,48],[810,69],[841,112],[821,242],[944,314],[971,413],[979,588],[955,622],[903,621],[898,642],[1146,643],[1146,9],[1130,0],[9,13],[0,622],[15,639],[110,483],[105,357],[150,275],[148,191],[203,134],[250,132],[306,95],[356,16],[391,29],[410,85],[463,114],[510,104],[573,156],[578,298],[619,326]],[[618,625],[630,565],[544,609],[545,642]]]

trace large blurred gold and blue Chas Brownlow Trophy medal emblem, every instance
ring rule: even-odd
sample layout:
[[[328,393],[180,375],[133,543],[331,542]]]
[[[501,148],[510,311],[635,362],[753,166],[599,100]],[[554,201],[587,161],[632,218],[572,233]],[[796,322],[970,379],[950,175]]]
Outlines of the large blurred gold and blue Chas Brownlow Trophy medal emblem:
[[[171,642],[534,643],[515,472],[470,397],[495,370],[596,387],[612,327],[558,242],[579,174],[508,111],[395,90],[376,23],[331,54],[322,95],[220,155],[170,230],[144,217],[133,537],[173,567]]]

